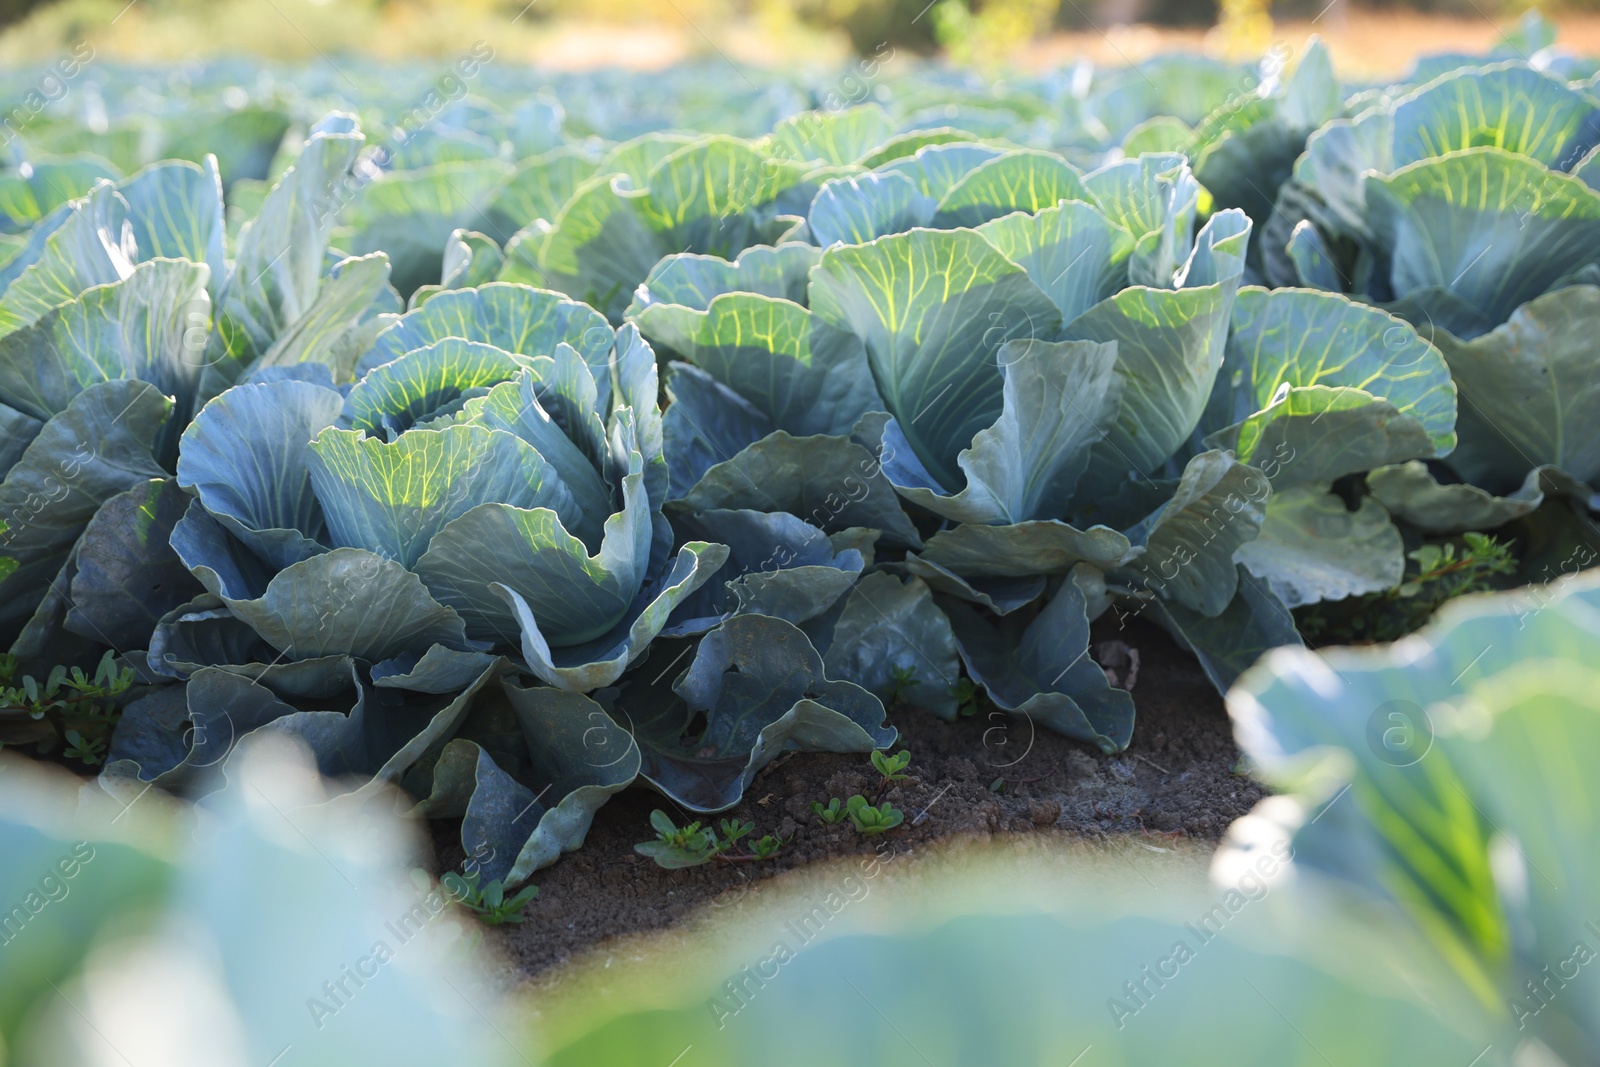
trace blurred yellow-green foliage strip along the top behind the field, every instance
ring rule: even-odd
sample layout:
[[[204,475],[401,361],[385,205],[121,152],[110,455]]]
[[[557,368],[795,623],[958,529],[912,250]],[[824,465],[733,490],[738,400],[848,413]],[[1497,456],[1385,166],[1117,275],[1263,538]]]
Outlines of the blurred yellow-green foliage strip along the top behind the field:
[[[1398,72],[1424,42],[1485,48],[1525,8],[1526,0],[0,0],[0,62],[32,62],[80,40],[150,62],[230,51],[446,56],[485,40],[507,59],[560,69],[654,69],[718,54],[838,64],[851,51],[882,58],[890,48],[998,69],[1078,56],[1123,66],[1197,48],[1256,56],[1275,35],[1317,32],[1336,66],[1370,75]],[[1555,0],[1550,13],[1568,46],[1600,43],[1600,0]]]

